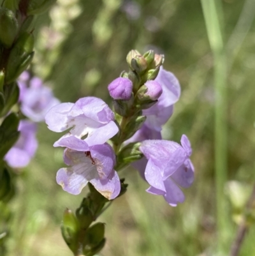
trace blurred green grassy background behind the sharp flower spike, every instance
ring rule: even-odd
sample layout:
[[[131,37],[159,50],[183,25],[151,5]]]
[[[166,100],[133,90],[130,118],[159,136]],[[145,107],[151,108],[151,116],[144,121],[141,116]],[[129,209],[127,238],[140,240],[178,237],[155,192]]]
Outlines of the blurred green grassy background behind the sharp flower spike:
[[[251,190],[255,181],[255,1],[219,3],[227,54],[228,134],[228,182],[222,190],[228,225],[222,254],[216,254],[220,217],[215,202],[214,58],[200,1],[59,0],[36,21],[33,72],[62,102],[94,95],[110,104],[107,86],[128,70],[131,49],[164,54],[164,68],[175,73],[182,87],[163,137],[179,142],[185,133],[191,140],[196,178],[185,191],[186,201],[170,207],[163,197],[145,192],[148,185],[135,170],[123,170],[120,177],[126,177],[128,192],[99,218],[106,223],[107,239],[99,255],[207,256],[230,251],[237,230],[232,216],[242,211],[235,202],[242,200],[242,188]],[[71,255],[59,225],[65,207],[75,210],[87,190],[69,195],[55,183],[63,166],[62,149],[52,147],[57,138],[59,134],[40,124],[38,152],[20,172],[11,202],[10,256]],[[255,255],[254,240],[251,226],[240,255]]]

